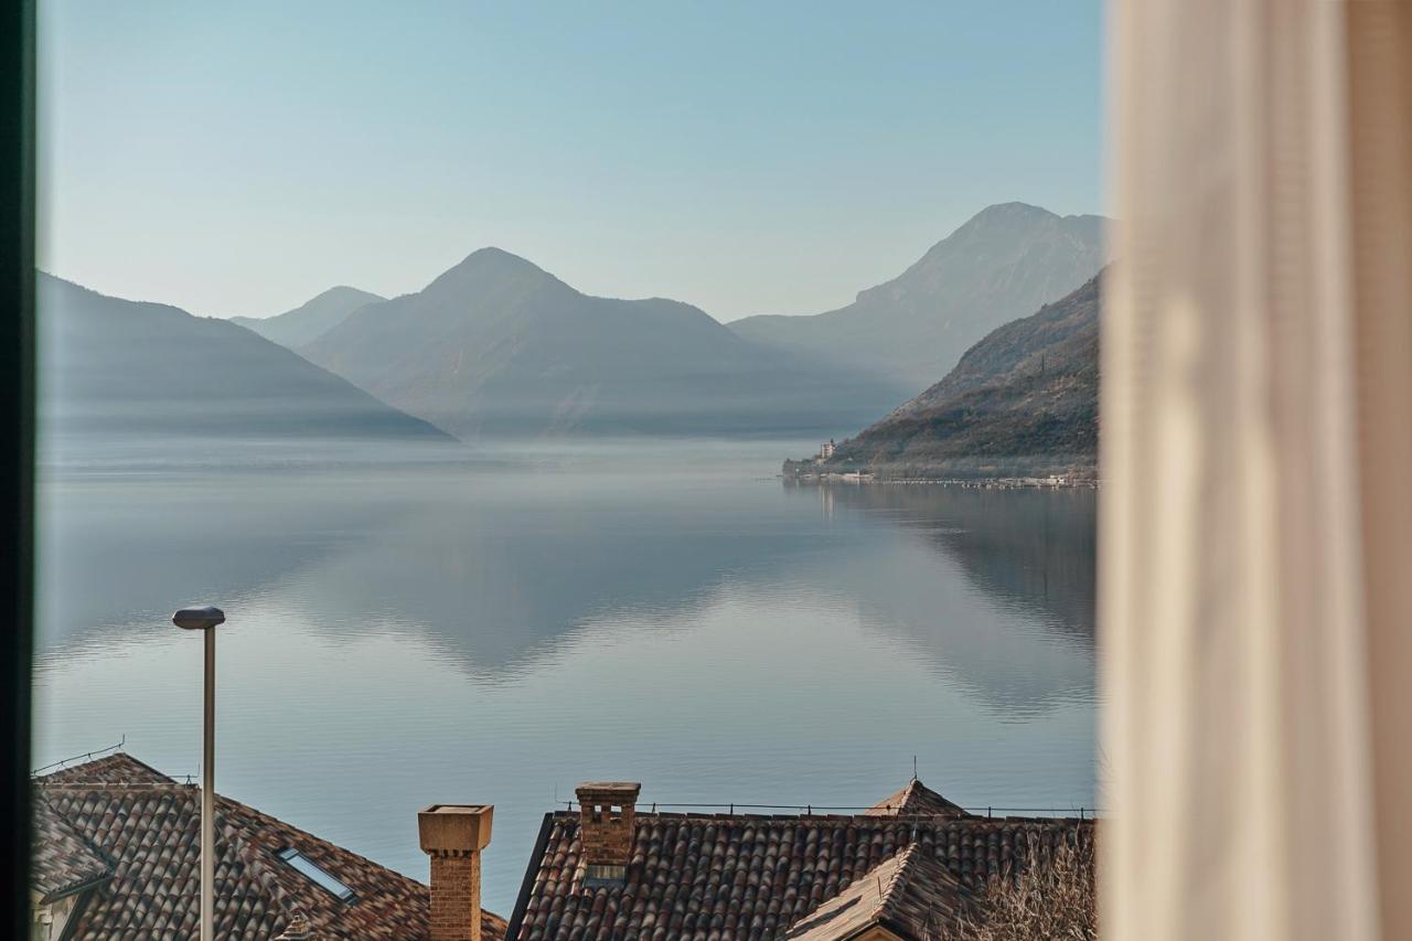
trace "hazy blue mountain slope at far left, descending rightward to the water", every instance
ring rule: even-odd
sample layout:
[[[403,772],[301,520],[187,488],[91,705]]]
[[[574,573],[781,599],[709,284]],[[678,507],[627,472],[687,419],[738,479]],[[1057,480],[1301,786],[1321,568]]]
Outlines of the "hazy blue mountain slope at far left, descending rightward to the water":
[[[55,431],[446,439],[230,321],[35,277],[40,408]]]

